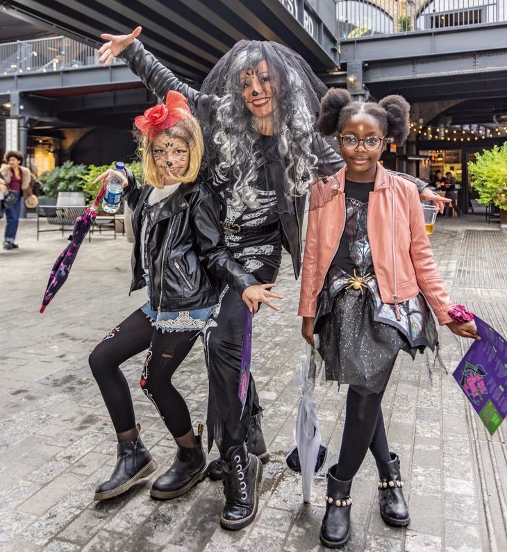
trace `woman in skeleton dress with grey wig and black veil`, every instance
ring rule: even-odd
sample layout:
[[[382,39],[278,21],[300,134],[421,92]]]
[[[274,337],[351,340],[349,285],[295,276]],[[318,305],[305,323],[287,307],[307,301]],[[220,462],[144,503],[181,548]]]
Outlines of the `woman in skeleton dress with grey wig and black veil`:
[[[167,90],[188,97],[203,127],[206,177],[222,203],[226,244],[244,269],[265,283],[275,281],[283,246],[297,278],[306,194],[318,176],[334,174],[343,165],[314,132],[326,85],[287,47],[240,40],[197,91],[135,40],[140,32],[138,27],[129,35],[101,35],[107,42],[99,50],[100,61],[109,65],[121,54],[158,97]],[[222,458],[226,505],[220,521],[232,530],[251,523],[257,510],[256,486],[243,470],[251,463],[249,452],[269,460],[252,377],[244,410],[238,400],[243,329],[241,298],[226,285],[203,342],[210,383],[208,444],[215,440]]]

